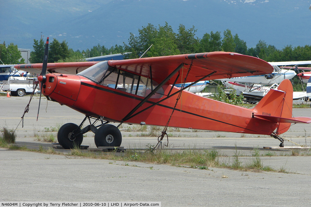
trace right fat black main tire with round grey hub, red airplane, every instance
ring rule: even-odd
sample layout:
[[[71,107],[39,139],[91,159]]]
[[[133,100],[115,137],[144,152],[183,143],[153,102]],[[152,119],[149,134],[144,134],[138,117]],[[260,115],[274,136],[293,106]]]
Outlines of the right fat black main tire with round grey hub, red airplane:
[[[122,135],[116,126],[105,124],[97,129],[94,141],[97,147],[120,146],[122,142]]]

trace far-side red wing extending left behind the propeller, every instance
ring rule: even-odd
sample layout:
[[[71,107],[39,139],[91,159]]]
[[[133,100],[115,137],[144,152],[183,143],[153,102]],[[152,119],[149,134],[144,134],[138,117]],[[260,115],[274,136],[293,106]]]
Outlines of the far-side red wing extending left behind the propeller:
[[[47,70],[50,73],[63,73],[75,75],[76,70],[81,72],[82,70],[91,67],[98,62],[62,62],[62,63],[48,63]],[[42,70],[42,63],[34,64],[21,64],[15,65],[14,68],[18,70],[25,70],[30,73],[40,74]]]

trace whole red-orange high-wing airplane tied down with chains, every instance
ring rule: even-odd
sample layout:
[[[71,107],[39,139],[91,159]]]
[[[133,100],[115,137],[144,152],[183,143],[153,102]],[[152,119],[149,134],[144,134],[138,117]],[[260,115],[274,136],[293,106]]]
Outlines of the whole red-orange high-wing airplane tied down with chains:
[[[287,79],[277,90],[271,89],[253,109],[185,90],[201,80],[272,73],[273,67],[256,57],[209,52],[47,64],[47,48],[48,40],[43,64],[15,68],[41,72],[38,80],[44,96],[85,114],[80,125],[67,123],[59,129],[58,142],[65,149],[80,146],[83,134],[90,130],[95,133],[97,147],[120,146],[122,135],[109,122],[264,134],[279,139],[280,146],[284,146],[284,140],[279,135],[291,123],[311,122],[309,117],[292,118],[293,88]],[[185,82],[193,83],[181,89],[174,86]],[[178,101],[179,98],[182,100]],[[82,128],[86,119],[89,124]]]

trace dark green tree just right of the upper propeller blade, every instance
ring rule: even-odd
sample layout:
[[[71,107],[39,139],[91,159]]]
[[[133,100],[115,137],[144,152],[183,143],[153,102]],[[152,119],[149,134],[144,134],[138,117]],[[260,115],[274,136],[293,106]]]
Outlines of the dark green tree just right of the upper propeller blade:
[[[69,57],[69,49],[65,40],[59,42],[53,38],[53,42],[49,44],[49,62],[57,62],[60,59],[66,59]]]

